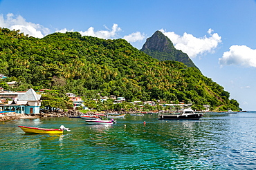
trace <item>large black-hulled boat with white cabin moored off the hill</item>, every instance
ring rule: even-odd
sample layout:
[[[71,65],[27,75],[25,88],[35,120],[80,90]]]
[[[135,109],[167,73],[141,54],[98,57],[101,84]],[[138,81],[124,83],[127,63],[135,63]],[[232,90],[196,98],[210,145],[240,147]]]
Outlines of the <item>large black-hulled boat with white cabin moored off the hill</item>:
[[[183,109],[179,114],[160,114],[159,120],[199,120],[203,114],[196,114],[191,108]]]

